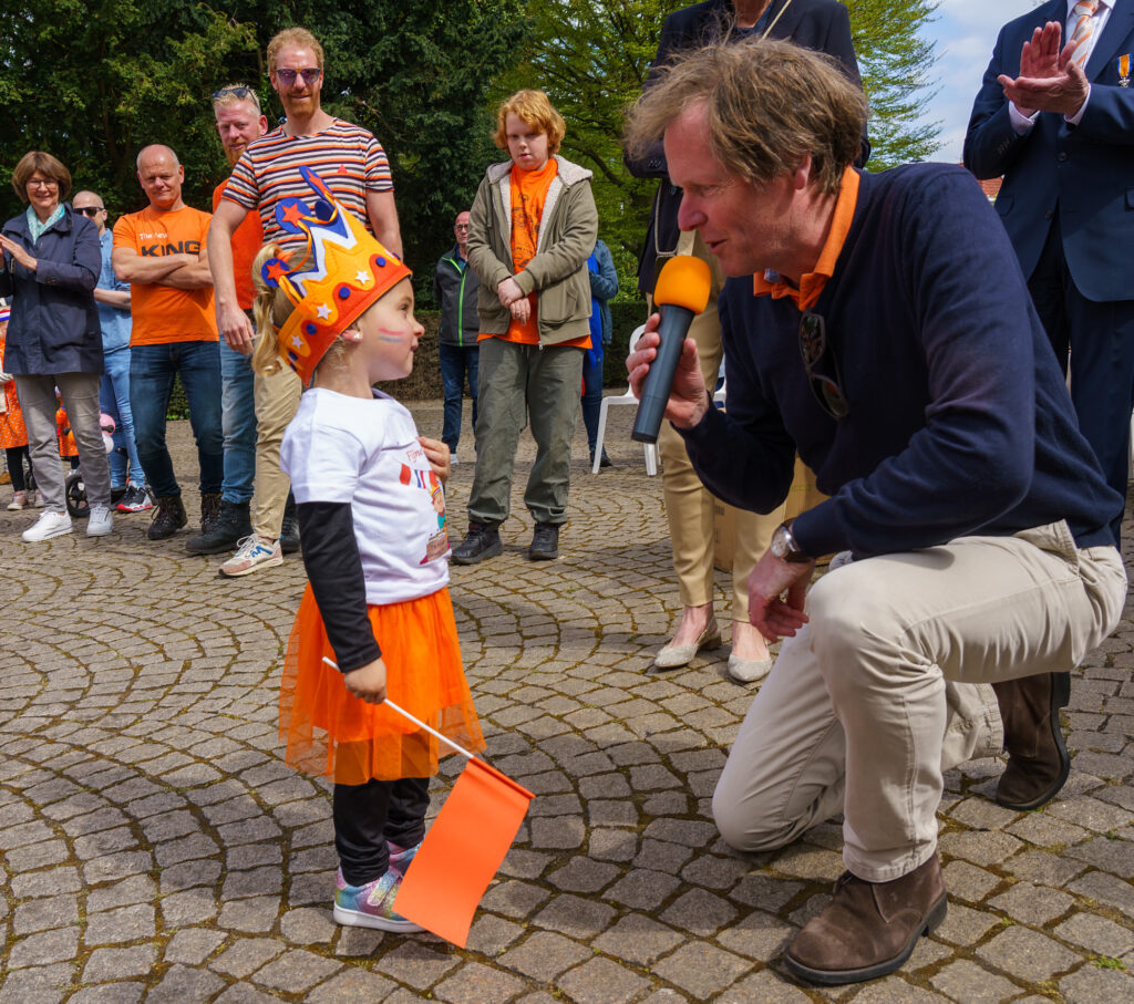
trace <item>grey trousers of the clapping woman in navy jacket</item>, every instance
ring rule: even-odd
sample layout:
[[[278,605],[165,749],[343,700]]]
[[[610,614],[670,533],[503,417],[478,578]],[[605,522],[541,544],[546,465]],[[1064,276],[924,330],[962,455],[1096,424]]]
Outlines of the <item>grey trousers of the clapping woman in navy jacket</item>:
[[[57,373],[53,376],[16,375],[16,394],[27,426],[28,453],[35,473],[35,486],[43,496],[44,510],[66,512],[64,468],[56,434],[56,388],[67,409],[83,468],[83,484],[92,505],[110,507],[110,463],[99,427],[98,373]]]

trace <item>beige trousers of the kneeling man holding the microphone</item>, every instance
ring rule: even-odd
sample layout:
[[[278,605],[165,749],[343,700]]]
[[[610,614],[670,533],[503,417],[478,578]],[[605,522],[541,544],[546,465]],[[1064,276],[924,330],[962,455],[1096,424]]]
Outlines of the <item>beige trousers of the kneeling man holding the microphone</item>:
[[[721,834],[764,851],[843,812],[852,873],[908,874],[937,849],[942,772],[1002,746],[988,684],[1073,669],[1125,599],[1118,551],[1065,522],[828,572],[729,752]]]

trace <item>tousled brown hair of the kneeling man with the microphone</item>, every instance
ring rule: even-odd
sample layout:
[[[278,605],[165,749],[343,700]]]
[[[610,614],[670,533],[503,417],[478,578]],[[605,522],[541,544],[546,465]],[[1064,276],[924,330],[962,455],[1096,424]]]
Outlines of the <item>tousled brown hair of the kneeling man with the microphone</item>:
[[[626,148],[644,156],[691,104],[703,104],[713,155],[733,175],[767,184],[811,154],[811,178],[839,190],[862,146],[868,105],[835,59],[790,42],[709,45],[667,63],[627,116]]]

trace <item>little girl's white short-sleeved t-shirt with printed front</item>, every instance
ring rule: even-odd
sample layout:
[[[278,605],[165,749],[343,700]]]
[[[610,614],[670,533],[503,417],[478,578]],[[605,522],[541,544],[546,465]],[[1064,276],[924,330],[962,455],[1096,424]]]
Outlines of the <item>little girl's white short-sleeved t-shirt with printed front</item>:
[[[349,502],[366,602],[400,603],[449,582],[445,491],[393,398],[314,388],[284,433],[280,467],[295,501]]]

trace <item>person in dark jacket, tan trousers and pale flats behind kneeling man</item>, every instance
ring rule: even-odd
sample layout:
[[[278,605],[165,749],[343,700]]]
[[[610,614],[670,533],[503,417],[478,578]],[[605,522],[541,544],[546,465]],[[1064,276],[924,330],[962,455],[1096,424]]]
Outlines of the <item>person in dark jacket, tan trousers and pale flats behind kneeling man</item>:
[[[653,87],[660,69],[675,56],[710,42],[734,43],[750,37],[792,41],[804,49],[837,59],[857,85],[858,65],[850,41],[847,9],[836,0],[706,0],[676,10],[666,18],[645,90]],[[870,154],[863,130],[861,164]],[[643,156],[627,158],[627,167],[638,178],[658,178],[658,195],[645,247],[638,265],[638,288],[653,293],[658,266],[674,254],[702,258],[712,274],[708,308],[693,322],[689,337],[700,351],[705,382],[716,383],[721,361],[720,323],[717,293],[725,276],[704,245],[694,233],[683,236],[677,226],[682,189],[669,179],[661,143]],[[682,598],[682,618],[672,639],[657,655],[660,669],[688,663],[701,648],[720,645],[721,636],[713,614],[713,500],[689,463],[685,443],[669,427],[661,431],[658,446],[662,458],[662,488],[666,516],[674,547],[674,569]],[[741,512],[736,517],[736,551],[733,555],[733,652],[728,670],[735,680],[755,682],[771,669],[768,647],[748,623],[747,576],[768,548],[772,531],[782,519],[773,512],[762,517]]]

